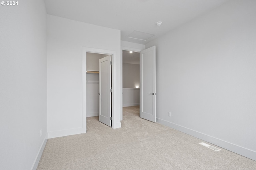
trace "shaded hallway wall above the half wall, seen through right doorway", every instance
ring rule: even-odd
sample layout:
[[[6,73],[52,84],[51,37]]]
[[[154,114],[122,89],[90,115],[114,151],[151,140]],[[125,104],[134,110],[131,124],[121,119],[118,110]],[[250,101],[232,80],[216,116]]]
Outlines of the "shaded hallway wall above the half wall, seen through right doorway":
[[[123,88],[140,86],[140,64],[123,63]]]

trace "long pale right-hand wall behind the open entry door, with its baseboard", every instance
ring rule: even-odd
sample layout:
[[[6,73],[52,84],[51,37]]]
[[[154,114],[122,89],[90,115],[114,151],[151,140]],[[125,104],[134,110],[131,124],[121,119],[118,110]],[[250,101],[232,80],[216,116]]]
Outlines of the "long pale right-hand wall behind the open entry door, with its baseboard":
[[[146,45],[156,45],[158,121],[254,160],[255,9],[229,1]]]

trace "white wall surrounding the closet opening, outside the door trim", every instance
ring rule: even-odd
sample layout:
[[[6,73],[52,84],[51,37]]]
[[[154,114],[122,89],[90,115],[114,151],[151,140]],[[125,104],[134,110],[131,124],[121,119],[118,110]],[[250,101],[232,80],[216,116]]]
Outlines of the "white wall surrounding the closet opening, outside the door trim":
[[[82,47],[118,54],[113,61],[120,110],[120,30],[47,16],[47,120],[49,138],[83,133]],[[85,73],[86,74],[86,73]],[[86,108],[83,108],[86,109]],[[120,117],[119,117],[120,120]]]

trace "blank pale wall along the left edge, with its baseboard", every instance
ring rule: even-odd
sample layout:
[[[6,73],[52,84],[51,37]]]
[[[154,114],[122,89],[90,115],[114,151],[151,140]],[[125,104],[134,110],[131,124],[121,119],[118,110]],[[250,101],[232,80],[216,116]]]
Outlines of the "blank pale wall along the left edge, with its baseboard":
[[[44,1],[1,5],[0,25],[0,169],[35,169],[47,139]]]

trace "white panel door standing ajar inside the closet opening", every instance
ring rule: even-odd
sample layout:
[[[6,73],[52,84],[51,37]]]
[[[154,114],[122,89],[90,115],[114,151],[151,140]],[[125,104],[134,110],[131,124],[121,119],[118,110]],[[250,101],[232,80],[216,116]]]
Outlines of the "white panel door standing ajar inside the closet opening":
[[[111,56],[99,60],[99,121],[111,126]]]

